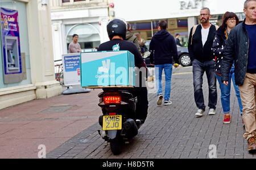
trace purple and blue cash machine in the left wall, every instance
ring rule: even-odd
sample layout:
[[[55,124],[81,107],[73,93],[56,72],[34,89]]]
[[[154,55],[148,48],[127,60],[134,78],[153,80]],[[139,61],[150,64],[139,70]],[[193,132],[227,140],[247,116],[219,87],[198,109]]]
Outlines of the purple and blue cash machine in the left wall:
[[[23,81],[19,42],[18,11],[0,8],[3,80],[5,84]]]

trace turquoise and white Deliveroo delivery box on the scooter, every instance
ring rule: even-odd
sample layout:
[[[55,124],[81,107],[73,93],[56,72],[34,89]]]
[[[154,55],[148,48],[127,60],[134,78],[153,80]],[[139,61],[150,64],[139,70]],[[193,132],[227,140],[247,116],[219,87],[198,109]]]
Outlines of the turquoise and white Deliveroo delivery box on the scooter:
[[[129,51],[81,53],[81,86],[108,88],[134,87],[134,55]]]

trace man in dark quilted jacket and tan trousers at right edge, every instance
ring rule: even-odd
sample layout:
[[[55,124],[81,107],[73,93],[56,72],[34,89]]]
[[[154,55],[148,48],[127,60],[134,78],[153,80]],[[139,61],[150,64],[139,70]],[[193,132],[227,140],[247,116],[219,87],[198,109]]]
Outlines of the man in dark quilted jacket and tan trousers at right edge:
[[[256,0],[246,0],[245,20],[234,27],[229,34],[222,59],[221,81],[230,84],[229,74],[234,63],[235,80],[240,89],[243,106],[243,122],[248,151],[256,151]]]

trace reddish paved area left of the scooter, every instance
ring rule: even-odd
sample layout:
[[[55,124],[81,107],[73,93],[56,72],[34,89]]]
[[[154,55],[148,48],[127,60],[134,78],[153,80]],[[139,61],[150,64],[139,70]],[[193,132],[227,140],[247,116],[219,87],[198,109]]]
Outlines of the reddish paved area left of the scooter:
[[[94,125],[101,90],[36,99],[0,110],[0,158],[38,158]]]

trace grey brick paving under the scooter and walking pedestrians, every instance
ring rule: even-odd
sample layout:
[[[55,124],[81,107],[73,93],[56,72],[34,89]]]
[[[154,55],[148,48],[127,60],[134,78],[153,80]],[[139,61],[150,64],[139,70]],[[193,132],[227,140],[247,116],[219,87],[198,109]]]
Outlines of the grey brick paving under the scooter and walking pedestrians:
[[[148,94],[148,117],[139,134],[125,144],[122,154],[113,155],[97,130],[98,123],[61,144],[47,154],[47,158],[100,158],[100,159],[163,159],[209,158],[210,144],[217,147],[217,158],[255,158],[247,152],[243,138],[244,128],[237,98],[232,88],[230,108],[232,123],[224,125],[218,89],[216,115],[195,117],[197,110],[193,99],[192,67],[174,69],[170,106],[157,106],[156,94]],[[218,86],[218,84],[217,84]],[[208,104],[207,78],[204,76],[205,105]]]

